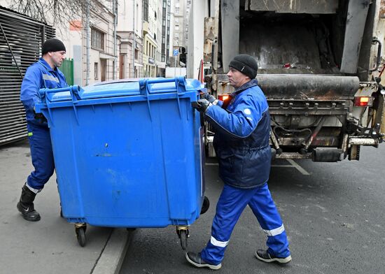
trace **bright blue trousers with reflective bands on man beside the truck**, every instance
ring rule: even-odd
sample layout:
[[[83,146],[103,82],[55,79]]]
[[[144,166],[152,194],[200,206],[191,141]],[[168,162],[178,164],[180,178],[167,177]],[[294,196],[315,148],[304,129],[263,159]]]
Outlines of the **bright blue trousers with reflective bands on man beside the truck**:
[[[216,205],[216,215],[211,227],[211,239],[202,250],[201,257],[210,264],[223,260],[232,230],[246,206],[250,206],[263,231],[267,233],[269,254],[288,257],[288,239],[267,183],[254,189],[239,189],[224,185]]]

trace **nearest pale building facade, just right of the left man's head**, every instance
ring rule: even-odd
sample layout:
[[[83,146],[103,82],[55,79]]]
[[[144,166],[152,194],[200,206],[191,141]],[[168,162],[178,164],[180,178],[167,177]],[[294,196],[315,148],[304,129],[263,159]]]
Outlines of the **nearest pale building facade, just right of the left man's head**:
[[[0,4],[15,8],[13,1],[0,0]],[[119,39],[114,35],[113,4],[114,1],[91,0],[88,16],[69,18],[65,24],[55,21],[50,10],[43,10],[45,18],[57,30],[57,38],[66,46],[66,58],[73,59],[75,85],[91,85],[118,77]],[[90,26],[88,32],[87,26]]]

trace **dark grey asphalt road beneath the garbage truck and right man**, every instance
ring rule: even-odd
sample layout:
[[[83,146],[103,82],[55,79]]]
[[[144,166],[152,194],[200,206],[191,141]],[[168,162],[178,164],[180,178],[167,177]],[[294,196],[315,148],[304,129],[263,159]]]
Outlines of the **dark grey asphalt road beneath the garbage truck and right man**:
[[[211,208],[190,227],[188,250],[210,237],[221,192],[218,166],[206,166]],[[254,257],[266,236],[250,208],[235,226],[218,273],[384,273],[385,145],[363,147],[360,161],[274,161],[269,189],[288,233],[293,261],[266,264]],[[173,226],[137,229],[120,273],[204,273],[186,262]]]

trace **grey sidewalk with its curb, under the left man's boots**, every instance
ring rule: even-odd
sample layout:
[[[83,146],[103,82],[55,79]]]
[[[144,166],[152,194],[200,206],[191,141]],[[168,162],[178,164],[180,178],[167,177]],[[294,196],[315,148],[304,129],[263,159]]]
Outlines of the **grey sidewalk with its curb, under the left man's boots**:
[[[80,247],[73,224],[59,215],[55,175],[36,196],[41,220],[22,218],[16,204],[32,170],[27,140],[0,147],[0,274],[119,271],[130,234],[125,229],[87,225],[87,243]]]

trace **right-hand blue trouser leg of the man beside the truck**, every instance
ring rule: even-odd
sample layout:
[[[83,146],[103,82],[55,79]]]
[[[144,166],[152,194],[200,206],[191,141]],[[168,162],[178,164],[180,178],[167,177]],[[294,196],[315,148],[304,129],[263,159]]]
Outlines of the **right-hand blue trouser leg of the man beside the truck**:
[[[288,257],[290,250],[285,227],[267,184],[258,187],[248,206],[253,210],[263,231],[267,233],[266,245],[269,247],[269,253],[276,257]]]

